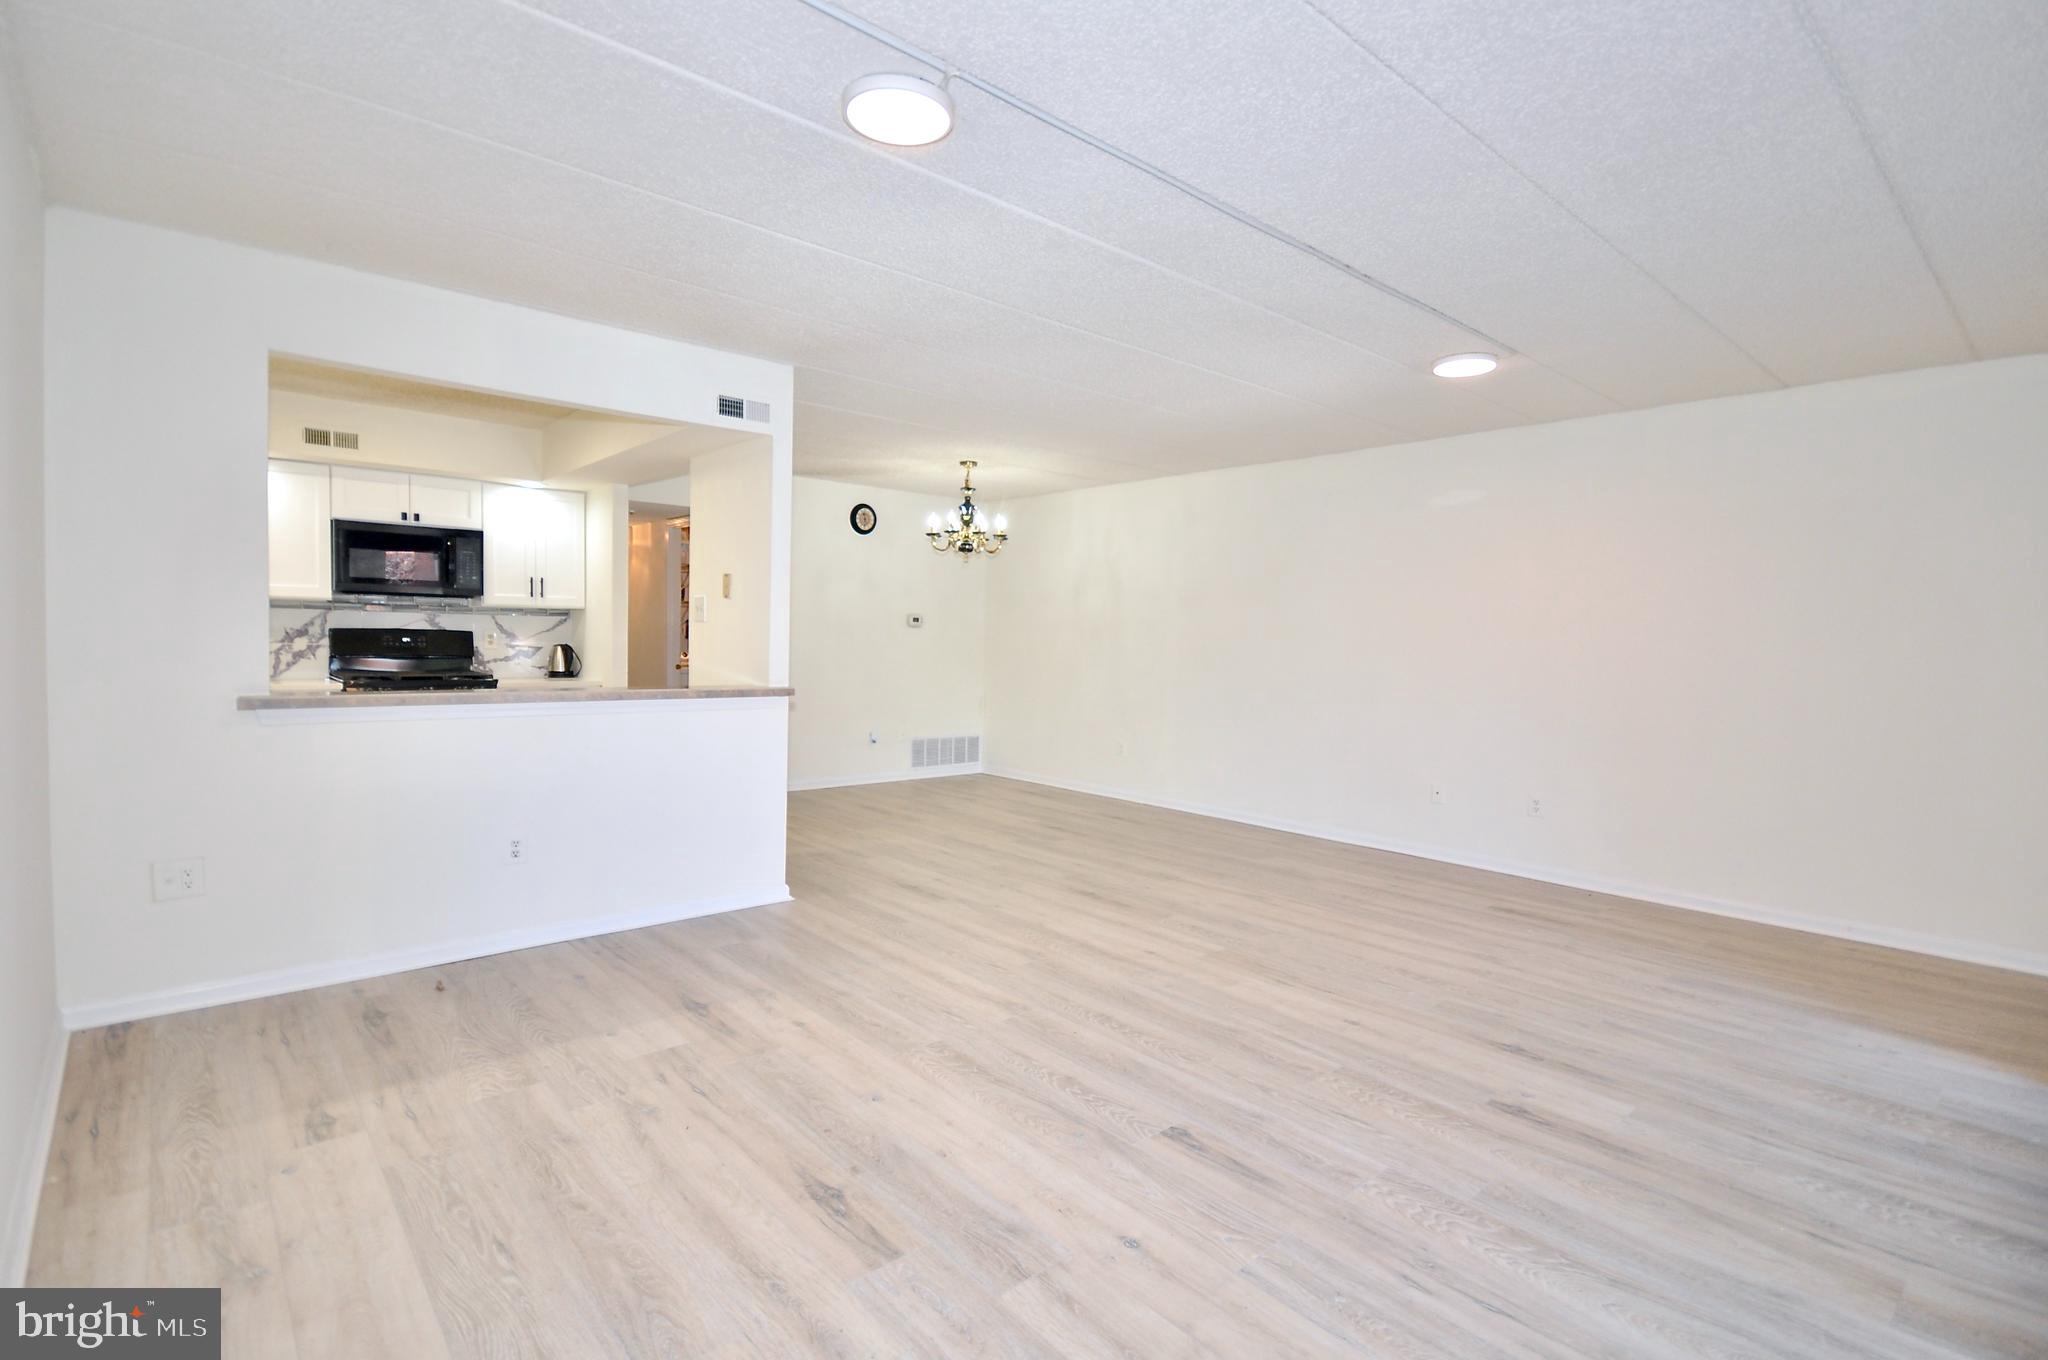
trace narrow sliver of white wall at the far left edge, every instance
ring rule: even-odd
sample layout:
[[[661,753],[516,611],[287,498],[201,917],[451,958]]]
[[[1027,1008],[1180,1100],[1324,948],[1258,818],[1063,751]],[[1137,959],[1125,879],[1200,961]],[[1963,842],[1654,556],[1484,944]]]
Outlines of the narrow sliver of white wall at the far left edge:
[[[0,1286],[20,1284],[63,1034],[51,971],[43,672],[43,190],[0,45]]]

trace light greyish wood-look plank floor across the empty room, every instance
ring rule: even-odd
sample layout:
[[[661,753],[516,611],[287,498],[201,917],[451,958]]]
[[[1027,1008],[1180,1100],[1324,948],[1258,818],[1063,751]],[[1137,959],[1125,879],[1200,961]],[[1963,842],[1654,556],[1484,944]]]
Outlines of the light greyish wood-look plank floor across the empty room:
[[[31,1280],[264,1360],[2048,1354],[2044,979],[979,776],[795,795],[791,883],[74,1036]]]

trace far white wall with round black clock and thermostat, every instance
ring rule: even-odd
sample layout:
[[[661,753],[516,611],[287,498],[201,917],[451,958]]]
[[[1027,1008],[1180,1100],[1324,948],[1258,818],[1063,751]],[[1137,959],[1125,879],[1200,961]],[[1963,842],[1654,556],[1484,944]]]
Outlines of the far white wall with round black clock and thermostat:
[[[860,502],[879,516],[866,537],[846,518]],[[1014,563],[934,553],[924,539],[924,516],[946,504],[942,492],[918,496],[797,479],[793,789],[907,778],[911,737],[981,733],[987,580]],[[905,625],[911,612],[924,614],[924,627]]]

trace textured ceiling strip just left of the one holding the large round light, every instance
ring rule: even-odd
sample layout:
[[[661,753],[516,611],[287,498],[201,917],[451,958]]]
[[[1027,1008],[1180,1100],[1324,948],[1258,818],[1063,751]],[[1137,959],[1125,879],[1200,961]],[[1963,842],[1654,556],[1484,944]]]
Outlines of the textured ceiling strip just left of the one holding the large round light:
[[[702,82],[489,0],[428,10],[358,0],[268,29],[233,23],[274,8],[248,0],[162,4],[152,10],[160,27],[170,27],[172,8],[193,12],[178,43],[205,41],[250,68],[293,72],[315,88],[1042,315],[1182,363],[1208,383],[1341,401],[1372,367],[1296,322],[920,174],[850,133],[764,117]]]

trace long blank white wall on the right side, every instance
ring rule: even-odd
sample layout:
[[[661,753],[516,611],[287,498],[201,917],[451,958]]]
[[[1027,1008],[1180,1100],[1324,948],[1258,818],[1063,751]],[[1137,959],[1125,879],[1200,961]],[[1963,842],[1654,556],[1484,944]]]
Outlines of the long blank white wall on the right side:
[[[991,766],[2048,971],[2048,356],[1010,516]]]

